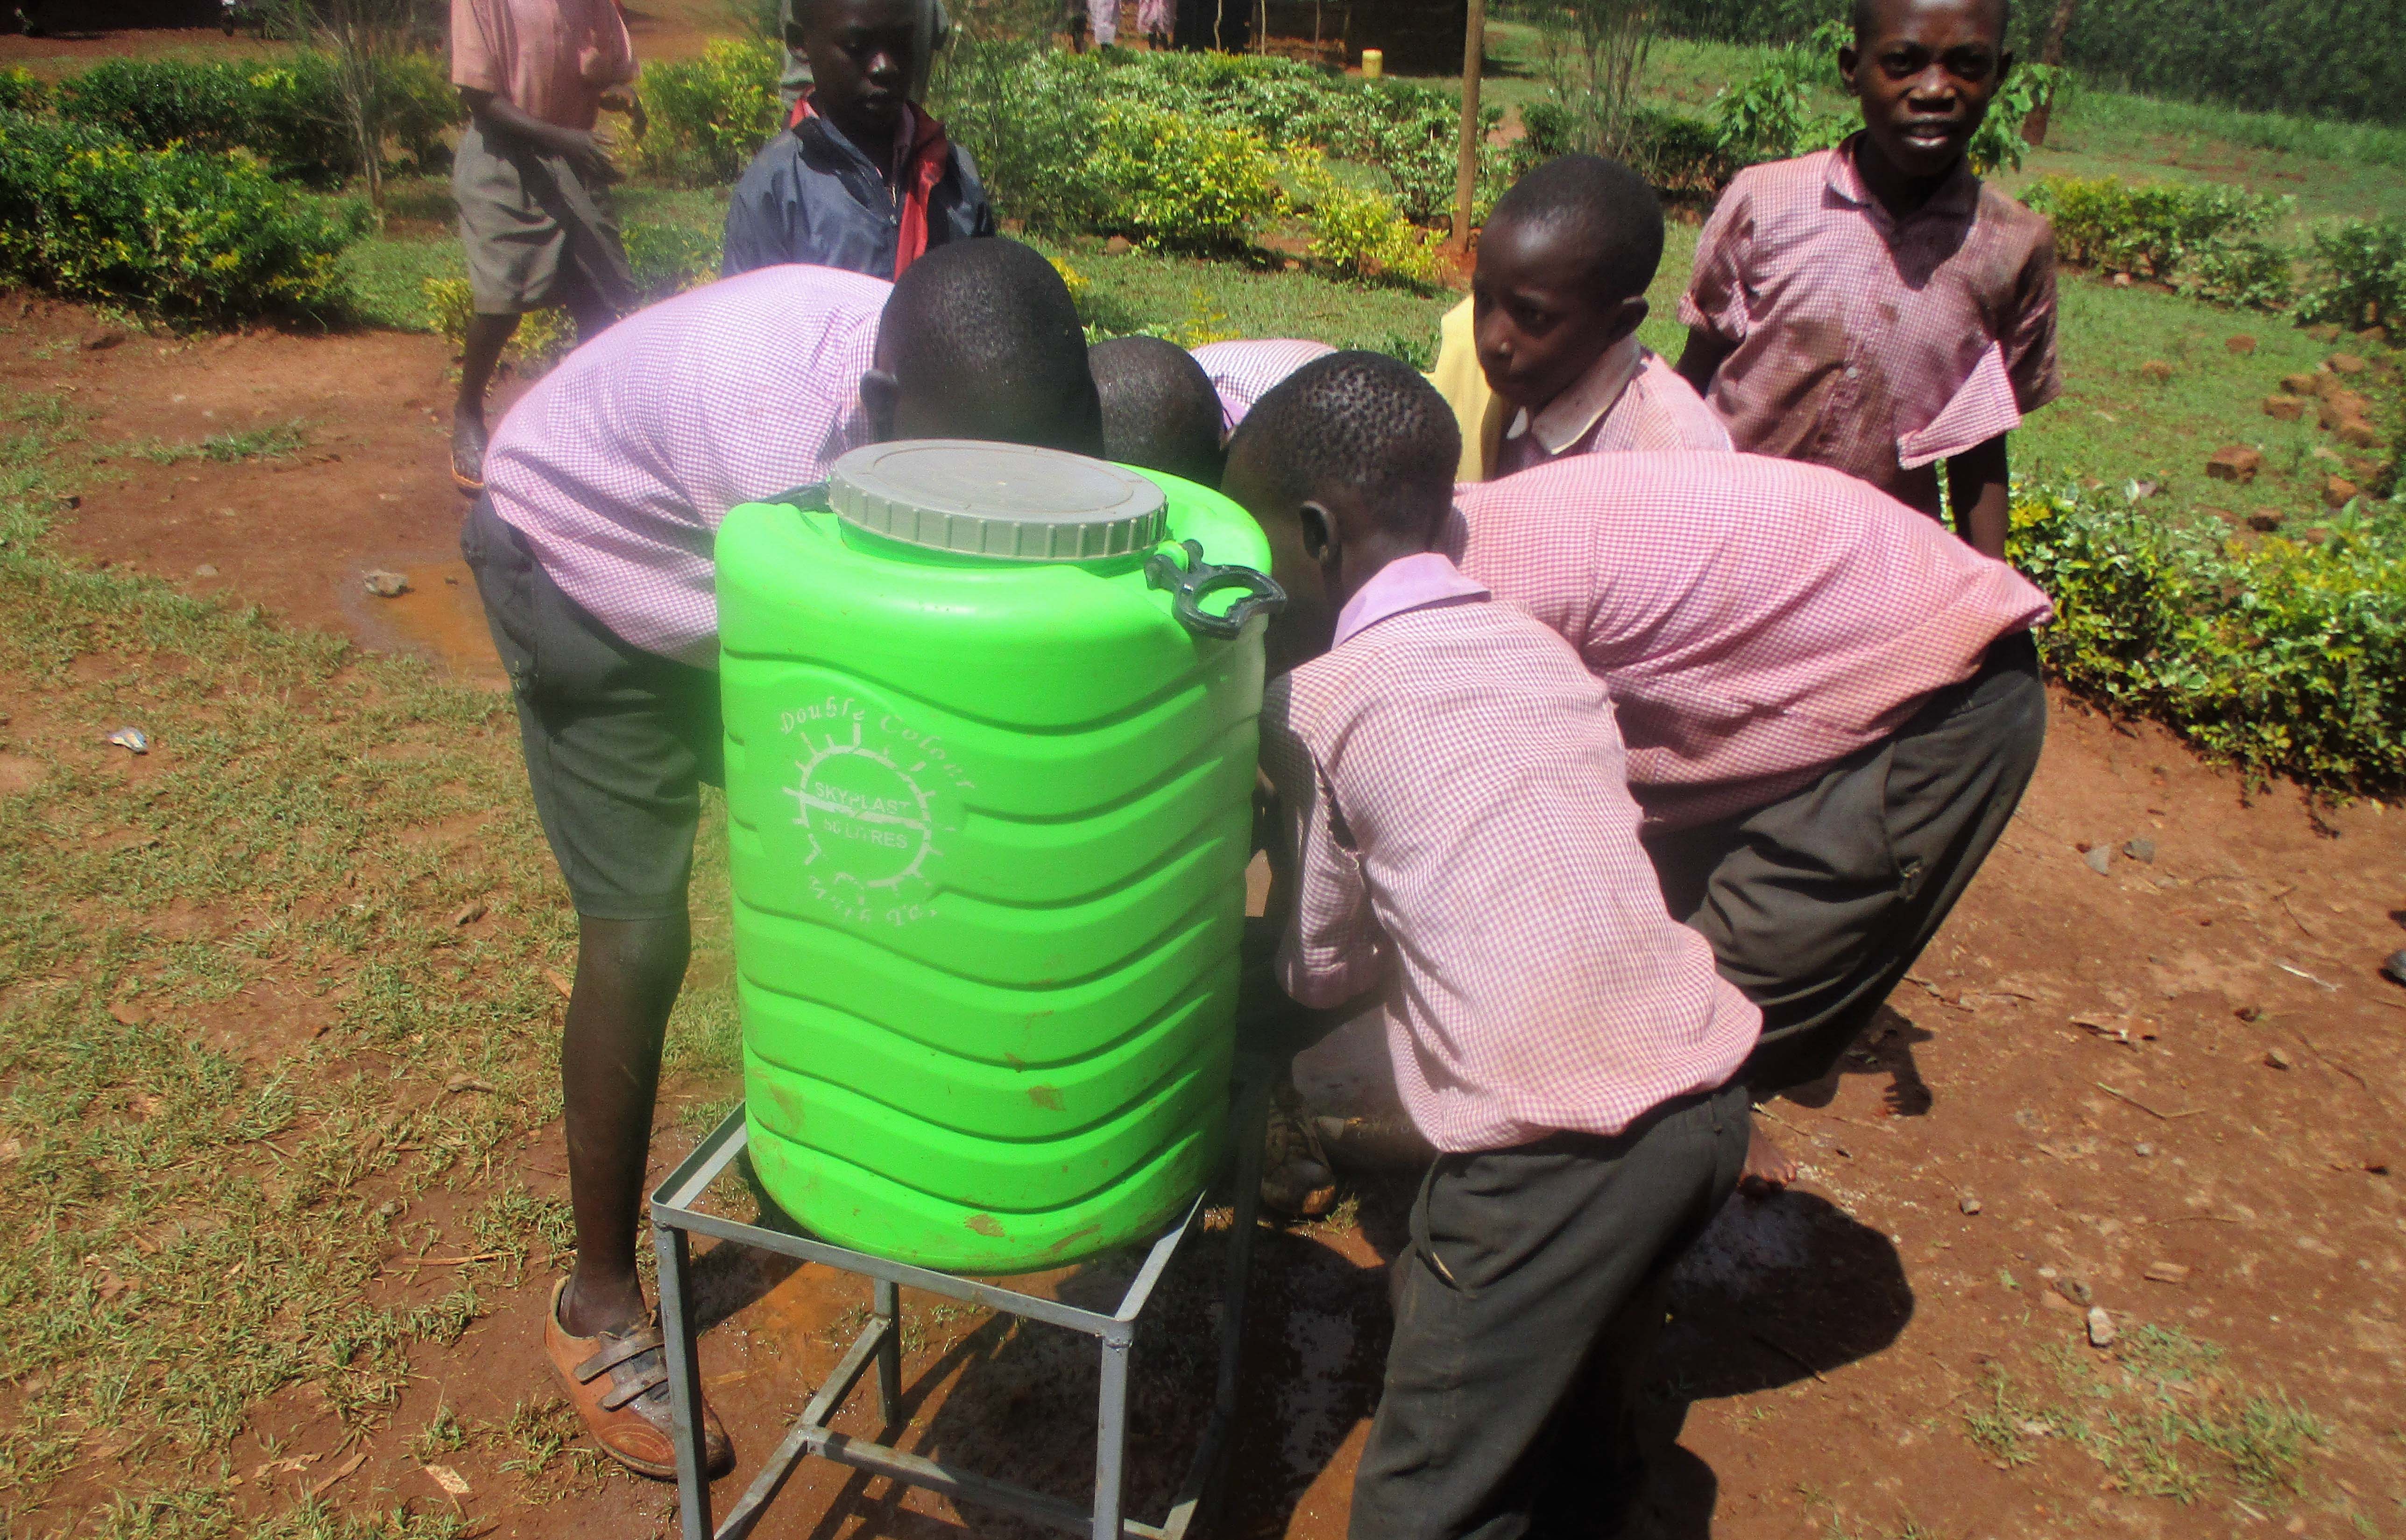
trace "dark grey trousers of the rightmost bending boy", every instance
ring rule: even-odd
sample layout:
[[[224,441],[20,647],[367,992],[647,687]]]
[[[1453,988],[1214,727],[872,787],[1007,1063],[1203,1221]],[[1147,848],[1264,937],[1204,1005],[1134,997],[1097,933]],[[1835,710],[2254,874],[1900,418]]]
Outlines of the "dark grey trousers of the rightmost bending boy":
[[[2038,650],[2016,633],[1802,792],[1646,842],[1672,917],[1764,1011],[1742,1071],[1756,1095],[1838,1064],[1963,898],[2045,739]]]

